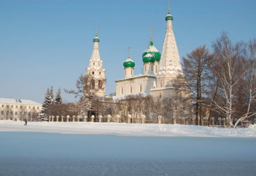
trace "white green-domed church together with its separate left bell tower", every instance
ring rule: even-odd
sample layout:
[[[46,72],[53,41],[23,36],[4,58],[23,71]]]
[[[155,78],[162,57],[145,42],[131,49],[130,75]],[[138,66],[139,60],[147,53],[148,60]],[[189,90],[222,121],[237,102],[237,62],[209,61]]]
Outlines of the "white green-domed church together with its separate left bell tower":
[[[179,75],[183,74],[179,51],[172,29],[173,17],[168,8],[168,14],[165,17],[167,22],[165,39],[163,41],[162,54],[155,48],[153,35],[151,42],[145,52],[143,52],[144,73],[134,75],[134,61],[128,55],[128,59],[123,63],[125,74],[123,79],[116,81],[116,97],[125,95],[136,95],[143,93],[152,95],[152,97],[173,97],[175,94],[172,83]],[[100,39],[97,32],[93,39],[94,47],[89,67],[86,68],[86,75],[93,76],[91,88],[98,88],[96,95],[105,95],[105,70],[102,68],[100,59],[99,45]]]

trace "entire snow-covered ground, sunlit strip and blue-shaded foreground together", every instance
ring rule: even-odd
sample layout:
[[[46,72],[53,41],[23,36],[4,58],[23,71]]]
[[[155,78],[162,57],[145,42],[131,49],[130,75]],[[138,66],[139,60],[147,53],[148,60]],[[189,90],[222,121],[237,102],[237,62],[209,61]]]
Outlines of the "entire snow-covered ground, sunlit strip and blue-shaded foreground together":
[[[0,175],[255,175],[255,129],[0,121]]]

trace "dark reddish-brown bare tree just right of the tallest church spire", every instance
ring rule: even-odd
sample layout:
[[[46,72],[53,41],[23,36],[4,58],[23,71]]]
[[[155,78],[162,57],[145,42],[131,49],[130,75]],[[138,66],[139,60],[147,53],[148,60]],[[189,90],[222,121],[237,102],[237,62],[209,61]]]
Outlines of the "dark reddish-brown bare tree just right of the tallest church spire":
[[[209,85],[212,80],[210,70],[212,58],[212,54],[206,49],[205,45],[192,50],[190,54],[187,54],[187,57],[183,57],[184,75],[179,75],[179,78],[174,81],[174,87],[178,92],[190,92],[190,96],[183,96],[181,101],[185,104],[188,99],[192,99],[194,103],[190,106],[195,107],[197,125],[202,125],[203,106],[207,106],[208,103],[206,96],[210,92]]]

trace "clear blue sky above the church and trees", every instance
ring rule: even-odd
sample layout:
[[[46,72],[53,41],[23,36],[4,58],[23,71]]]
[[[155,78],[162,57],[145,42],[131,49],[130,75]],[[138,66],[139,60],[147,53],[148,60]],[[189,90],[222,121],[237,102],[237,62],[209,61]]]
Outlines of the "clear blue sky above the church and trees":
[[[180,57],[212,42],[222,31],[233,42],[256,36],[256,1],[171,1]],[[98,27],[100,57],[106,69],[106,94],[124,77],[123,61],[131,47],[135,74],[154,27],[161,52],[167,1],[0,1],[0,97],[42,103],[44,92],[62,88],[65,102],[75,101],[63,88],[75,88],[87,68]]]

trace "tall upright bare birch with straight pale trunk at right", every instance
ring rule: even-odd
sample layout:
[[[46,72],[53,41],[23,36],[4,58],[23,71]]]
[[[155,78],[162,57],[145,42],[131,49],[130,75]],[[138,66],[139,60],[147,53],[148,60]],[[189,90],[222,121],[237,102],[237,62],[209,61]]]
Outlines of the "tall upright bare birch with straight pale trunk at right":
[[[245,45],[242,42],[232,45],[226,32],[213,44],[214,48],[214,74],[219,85],[217,99],[212,99],[215,110],[226,117],[227,126],[233,126],[231,117],[235,113],[235,98],[237,86],[250,70],[244,57]]]

